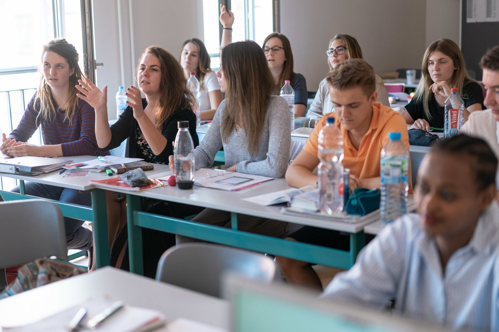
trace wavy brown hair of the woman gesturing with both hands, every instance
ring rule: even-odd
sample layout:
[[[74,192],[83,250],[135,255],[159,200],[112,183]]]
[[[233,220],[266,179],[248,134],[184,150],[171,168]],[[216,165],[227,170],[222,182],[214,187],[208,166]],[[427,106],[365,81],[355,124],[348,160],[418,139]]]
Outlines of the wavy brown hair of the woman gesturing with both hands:
[[[161,70],[161,82],[159,89],[161,98],[156,111],[156,127],[162,129],[166,120],[178,108],[194,110],[195,98],[187,88],[187,79],[184,70],[175,57],[161,46],[149,46],[140,56],[137,64],[136,75],[139,72],[140,63],[147,54],[158,58]]]

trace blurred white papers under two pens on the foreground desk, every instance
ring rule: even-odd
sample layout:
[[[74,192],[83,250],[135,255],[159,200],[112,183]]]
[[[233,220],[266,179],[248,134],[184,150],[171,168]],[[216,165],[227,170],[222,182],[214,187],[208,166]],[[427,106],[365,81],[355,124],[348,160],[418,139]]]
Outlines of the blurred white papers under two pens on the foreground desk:
[[[109,298],[93,298],[85,301],[80,306],[73,307],[53,316],[45,318],[41,321],[24,325],[20,327],[2,327],[1,331],[5,332],[67,332],[67,325],[80,310],[87,309],[87,315],[83,318],[81,326],[84,326],[89,319],[101,313],[104,309],[109,308],[115,301]],[[29,313],[26,313],[29,315]],[[78,331],[95,331],[95,332],[140,332],[150,331],[152,328],[163,326],[165,318],[156,310],[133,307],[129,305],[123,306],[116,313],[99,324],[95,329],[83,329]],[[147,329],[145,329],[147,327]]]

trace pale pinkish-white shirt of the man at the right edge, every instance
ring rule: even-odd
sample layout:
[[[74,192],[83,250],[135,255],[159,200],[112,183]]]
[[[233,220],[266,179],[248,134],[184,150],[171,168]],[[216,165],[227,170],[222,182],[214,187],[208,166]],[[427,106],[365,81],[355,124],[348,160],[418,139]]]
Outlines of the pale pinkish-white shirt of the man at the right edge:
[[[472,112],[459,132],[482,138],[499,158],[499,122],[496,121],[490,109]],[[496,175],[496,186],[499,190],[499,167]]]

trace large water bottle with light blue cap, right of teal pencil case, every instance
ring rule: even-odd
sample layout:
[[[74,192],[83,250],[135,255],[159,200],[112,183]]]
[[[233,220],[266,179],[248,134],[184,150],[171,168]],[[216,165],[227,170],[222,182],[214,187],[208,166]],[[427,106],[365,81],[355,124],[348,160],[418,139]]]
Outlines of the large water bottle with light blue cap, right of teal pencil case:
[[[390,141],[381,150],[380,221],[394,221],[407,213],[409,189],[409,151],[400,141],[400,132],[391,132]]]

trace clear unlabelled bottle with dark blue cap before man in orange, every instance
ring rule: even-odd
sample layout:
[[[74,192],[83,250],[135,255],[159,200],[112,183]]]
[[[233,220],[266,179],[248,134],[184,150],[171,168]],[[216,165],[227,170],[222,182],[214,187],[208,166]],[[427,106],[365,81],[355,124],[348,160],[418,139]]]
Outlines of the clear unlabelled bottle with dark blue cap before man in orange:
[[[343,211],[343,135],[334,124],[334,117],[319,132],[318,153],[320,163],[319,210],[328,215]]]

